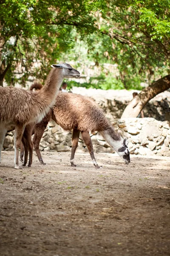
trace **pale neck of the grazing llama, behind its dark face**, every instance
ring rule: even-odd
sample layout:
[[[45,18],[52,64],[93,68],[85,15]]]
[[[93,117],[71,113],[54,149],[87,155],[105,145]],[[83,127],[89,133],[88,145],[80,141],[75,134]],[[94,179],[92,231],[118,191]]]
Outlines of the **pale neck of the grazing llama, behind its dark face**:
[[[118,152],[118,149],[122,147],[123,139],[113,127],[110,126],[106,130],[100,131],[100,134],[116,152]]]

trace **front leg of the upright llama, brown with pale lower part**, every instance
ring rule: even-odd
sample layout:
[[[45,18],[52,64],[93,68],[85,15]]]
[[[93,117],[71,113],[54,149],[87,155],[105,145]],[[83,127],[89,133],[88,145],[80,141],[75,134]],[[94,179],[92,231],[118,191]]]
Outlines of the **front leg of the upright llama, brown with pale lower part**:
[[[22,169],[21,166],[19,166],[18,157],[19,157],[19,149],[21,145],[21,138],[23,137],[23,132],[26,125],[20,124],[15,126],[15,132],[14,132],[14,148],[15,148],[15,156],[14,156],[14,164],[15,169]]]

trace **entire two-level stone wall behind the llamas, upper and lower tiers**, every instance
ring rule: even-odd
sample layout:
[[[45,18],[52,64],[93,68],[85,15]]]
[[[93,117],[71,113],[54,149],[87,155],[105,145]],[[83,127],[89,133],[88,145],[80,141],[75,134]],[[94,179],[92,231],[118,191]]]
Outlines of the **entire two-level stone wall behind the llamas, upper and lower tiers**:
[[[105,116],[124,137],[130,138],[132,154],[169,155],[169,124],[161,122],[170,120],[170,92],[160,93],[150,100],[144,108],[144,116],[148,118],[119,120],[128,102],[132,99],[132,92],[127,90],[96,90],[74,87],[73,93],[79,93],[93,98]],[[138,91],[139,92],[139,91]],[[153,117],[153,118],[150,118]],[[157,120],[156,120],[157,119]],[[113,150],[104,141],[100,134],[91,134],[95,152],[112,153]],[[3,144],[6,151],[14,150],[13,132],[6,135]],[[43,151],[70,151],[71,132],[65,132],[54,122],[48,124],[43,134],[40,150]],[[86,152],[82,138],[79,139],[77,151]]]

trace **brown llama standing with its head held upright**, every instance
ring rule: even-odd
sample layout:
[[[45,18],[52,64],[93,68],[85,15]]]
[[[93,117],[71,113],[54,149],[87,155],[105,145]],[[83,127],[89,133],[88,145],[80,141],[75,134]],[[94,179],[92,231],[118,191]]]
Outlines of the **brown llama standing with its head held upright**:
[[[69,64],[52,64],[45,86],[36,93],[14,87],[0,87],[0,157],[6,131],[15,127],[14,168],[18,163],[19,148],[24,128],[29,122],[40,122],[54,105],[55,98],[65,77],[80,76]],[[0,158],[1,160],[1,158]]]

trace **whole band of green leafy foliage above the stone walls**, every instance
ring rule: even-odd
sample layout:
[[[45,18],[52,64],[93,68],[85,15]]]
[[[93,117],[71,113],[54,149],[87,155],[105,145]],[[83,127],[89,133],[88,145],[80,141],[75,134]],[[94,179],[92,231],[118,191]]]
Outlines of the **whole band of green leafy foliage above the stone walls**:
[[[141,89],[141,82],[169,73],[169,6],[170,0],[2,0],[5,79],[44,81],[51,63],[94,61],[101,74],[81,86]],[[104,63],[116,64],[119,75],[105,72]],[[68,81],[68,88],[75,85]]]

